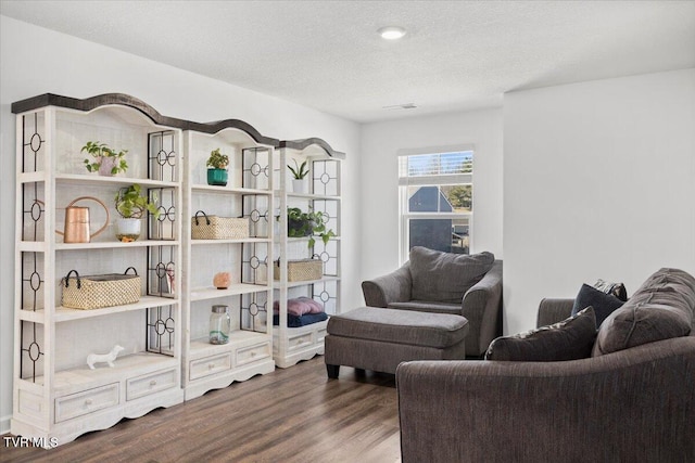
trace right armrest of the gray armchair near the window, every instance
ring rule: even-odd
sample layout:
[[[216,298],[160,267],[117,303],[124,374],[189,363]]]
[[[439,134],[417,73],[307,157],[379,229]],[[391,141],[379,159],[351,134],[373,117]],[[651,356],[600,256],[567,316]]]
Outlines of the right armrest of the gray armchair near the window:
[[[466,355],[481,356],[502,335],[502,260],[464,295],[462,314],[468,320]]]

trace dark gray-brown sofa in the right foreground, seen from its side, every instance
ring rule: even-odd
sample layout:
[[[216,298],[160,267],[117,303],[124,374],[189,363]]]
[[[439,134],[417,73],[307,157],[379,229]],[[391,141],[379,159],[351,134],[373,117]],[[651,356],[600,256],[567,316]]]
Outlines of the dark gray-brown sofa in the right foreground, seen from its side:
[[[544,299],[538,323],[571,310]],[[594,332],[591,357],[401,363],[403,462],[695,461],[694,310],[695,279],[661,269]]]

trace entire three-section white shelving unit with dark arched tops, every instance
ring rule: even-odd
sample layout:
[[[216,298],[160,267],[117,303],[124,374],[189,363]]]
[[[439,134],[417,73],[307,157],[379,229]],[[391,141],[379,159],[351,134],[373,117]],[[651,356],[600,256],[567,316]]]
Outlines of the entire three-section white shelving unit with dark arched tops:
[[[286,368],[324,351],[327,322],[287,326],[287,300],[305,295],[340,311],[340,160],[320,139],[286,141],[227,119],[199,124],[165,117],[119,93],[78,100],[43,94],[12,104],[16,114],[16,246],[14,381],[11,433],[51,448],[124,417],[193,399]],[[88,141],[128,150],[126,172],[87,171]],[[206,183],[214,149],[231,159],[225,187]],[[288,190],[289,159],[308,159],[308,193]],[[64,243],[65,208],[89,196],[108,207],[116,193],[138,183],[159,215],[142,219],[135,242],[116,240],[115,220],[87,243]],[[289,239],[287,208],[320,210],[337,236],[309,248]],[[249,236],[193,240],[199,210],[244,217]],[[92,224],[109,222],[90,207]],[[92,229],[97,229],[96,226]],[[275,236],[275,231],[280,231]],[[288,281],[287,259],[316,254],[320,279]],[[274,261],[283,262],[279,279]],[[63,307],[61,279],[123,273],[141,276],[137,303],[91,310]],[[217,272],[231,284],[213,287]],[[279,325],[273,325],[274,301]],[[227,305],[230,340],[208,342],[213,305]],[[114,366],[87,365],[90,353],[124,347]]]

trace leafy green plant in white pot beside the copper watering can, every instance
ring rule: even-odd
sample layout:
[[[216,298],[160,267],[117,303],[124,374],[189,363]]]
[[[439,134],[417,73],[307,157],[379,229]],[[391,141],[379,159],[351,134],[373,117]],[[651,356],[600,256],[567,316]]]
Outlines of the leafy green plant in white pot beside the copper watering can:
[[[142,193],[142,187],[131,184],[124,187],[116,193],[115,206],[121,218],[116,221],[116,237],[118,241],[128,243],[140,237],[140,229],[143,214],[149,211],[155,218],[160,216],[156,206],[156,198],[150,201],[147,194]]]

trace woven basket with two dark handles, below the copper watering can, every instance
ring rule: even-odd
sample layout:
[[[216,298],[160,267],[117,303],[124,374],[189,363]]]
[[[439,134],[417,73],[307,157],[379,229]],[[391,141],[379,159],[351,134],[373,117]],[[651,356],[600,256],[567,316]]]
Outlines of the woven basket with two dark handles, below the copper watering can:
[[[136,274],[127,274],[132,269]],[[71,276],[75,273],[75,276]],[[63,307],[71,309],[99,309],[123,306],[140,300],[140,276],[132,267],[125,273],[80,276],[71,270],[61,279]]]

